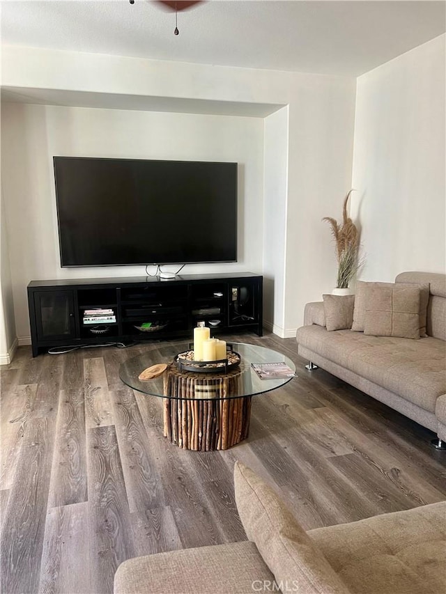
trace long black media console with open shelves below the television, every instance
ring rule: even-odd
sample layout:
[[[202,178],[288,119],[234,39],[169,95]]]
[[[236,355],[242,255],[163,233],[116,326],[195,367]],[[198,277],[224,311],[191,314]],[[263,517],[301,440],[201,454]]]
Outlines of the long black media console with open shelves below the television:
[[[28,286],[33,357],[52,347],[132,343],[190,336],[197,321],[211,334],[262,335],[263,277],[252,272],[121,279],[31,281]],[[112,310],[114,322],[94,328],[84,311]],[[215,325],[215,322],[218,324]],[[151,330],[138,327],[151,322]],[[103,334],[96,334],[103,331]]]

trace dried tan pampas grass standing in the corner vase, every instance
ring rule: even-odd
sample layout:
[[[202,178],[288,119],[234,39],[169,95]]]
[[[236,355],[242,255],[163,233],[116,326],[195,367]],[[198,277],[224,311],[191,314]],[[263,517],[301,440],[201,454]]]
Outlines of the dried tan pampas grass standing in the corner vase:
[[[360,233],[356,225],[347,214],[347,203],[353,189],[344,198],[342,208],[342,224],[332,217],[323,217],[332,228],[332,235],[336,244],[336,257],[338,261],[337,288],[346,289],[348,283],[360,269],[363,260],[359,259]]]

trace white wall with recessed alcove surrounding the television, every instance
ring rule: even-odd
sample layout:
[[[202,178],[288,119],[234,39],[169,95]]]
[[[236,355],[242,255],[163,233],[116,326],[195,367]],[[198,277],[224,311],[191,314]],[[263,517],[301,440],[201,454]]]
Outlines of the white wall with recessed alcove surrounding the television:
[[[330,283],[330,238],[312,231],[307,198],[320,220],[350,184],[353,79],[12,47],[4,63],[2,283],[19,343],[29,342],[30,280],[144,274],[61,269],[53,155],[237,161],[239,261],[187,272],[263,274],[266,327],[293,336],[309,298],[300,279],[312,274],[314,297]]]

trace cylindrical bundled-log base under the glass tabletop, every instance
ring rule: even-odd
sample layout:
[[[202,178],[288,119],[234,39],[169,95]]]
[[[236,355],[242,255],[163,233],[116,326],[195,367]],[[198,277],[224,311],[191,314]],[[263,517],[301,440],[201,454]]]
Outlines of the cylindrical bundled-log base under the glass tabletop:
[[[185,450],[226,450],[248,437],[252,396],[240,393],[240,370],[226,375],[164,373],[164,436]],[[175,398],[179,397],[179,398]],[[180,400],[180,398],[194,400]]]

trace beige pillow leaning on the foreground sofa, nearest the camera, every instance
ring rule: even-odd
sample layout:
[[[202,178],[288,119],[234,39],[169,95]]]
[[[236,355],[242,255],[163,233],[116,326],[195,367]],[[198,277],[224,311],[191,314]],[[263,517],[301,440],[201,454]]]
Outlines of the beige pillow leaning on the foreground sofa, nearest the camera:
[[[348,588],[277,494],[240,462],[234,466],[240,519],[282,591],[348,594]],[[286,589],[285,589],[286,588]]]

